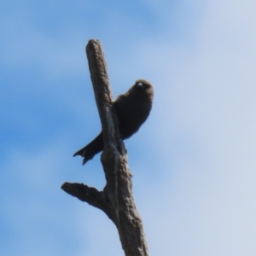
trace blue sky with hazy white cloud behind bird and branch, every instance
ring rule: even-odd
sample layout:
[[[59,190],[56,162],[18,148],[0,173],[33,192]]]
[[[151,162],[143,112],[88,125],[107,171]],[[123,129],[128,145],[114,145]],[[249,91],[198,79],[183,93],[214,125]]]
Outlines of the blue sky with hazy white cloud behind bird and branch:
[[[0,254],[123,255],[100,210],[61,184],[105,184],[84,47],[102,42],[113,96],[154,84],[125,141],[150,255],[256,254],[254,1],[2,1]]]

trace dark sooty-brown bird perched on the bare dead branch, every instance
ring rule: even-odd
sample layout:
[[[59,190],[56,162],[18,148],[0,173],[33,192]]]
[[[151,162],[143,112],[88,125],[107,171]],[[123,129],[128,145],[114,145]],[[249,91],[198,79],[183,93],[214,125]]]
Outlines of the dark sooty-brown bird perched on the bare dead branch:
[[[131,137],[137,132],[141,125],[148,118],[152,108],[154,89],[148,81],[139,79],[131,86],[125,94],[118,96],[113,107],[119,119],[119,133],[121,139]],[[73,156],[81,155],[84,157],[83,165],[91,160],[104,148],[104,141],[101,133],[84,148],[81,148]]]

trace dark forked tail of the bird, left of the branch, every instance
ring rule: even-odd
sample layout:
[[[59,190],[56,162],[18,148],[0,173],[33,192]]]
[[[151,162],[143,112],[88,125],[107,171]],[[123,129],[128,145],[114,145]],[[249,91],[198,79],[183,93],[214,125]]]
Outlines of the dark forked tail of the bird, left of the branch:
[[[73,156],[81,155],[84,157],[83,165],[88,161],[91,160],[96,154],[100,153],[103,150],[103,137],[102,132],[88,145],[84,148],[79,149],[78,152],[73,154]]]

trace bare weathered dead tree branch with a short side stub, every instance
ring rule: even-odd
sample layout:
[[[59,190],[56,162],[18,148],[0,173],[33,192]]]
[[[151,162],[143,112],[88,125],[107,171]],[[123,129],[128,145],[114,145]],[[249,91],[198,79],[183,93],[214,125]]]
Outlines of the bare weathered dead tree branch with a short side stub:
[[[126,256],[148,256],[142,220],[132,195],[126,149],[119,137],[118,119],[112,108],[113,97],[100,42],[90,40],[86,46],[86,54],[102,122],[104,150],[101,160],[107,183],[102,191],[83,183],[64,183],[61,189],[108,215],[119,231]]]

